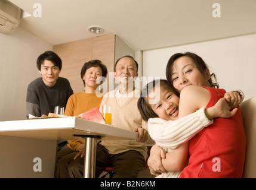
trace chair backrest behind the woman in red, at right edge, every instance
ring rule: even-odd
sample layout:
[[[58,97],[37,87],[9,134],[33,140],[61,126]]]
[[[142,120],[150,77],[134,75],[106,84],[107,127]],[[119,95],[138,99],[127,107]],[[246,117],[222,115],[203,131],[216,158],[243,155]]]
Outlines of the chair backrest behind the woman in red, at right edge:
[[[246,135],[246,159],[243,178],[256,178],[256,97],[241,103]]]

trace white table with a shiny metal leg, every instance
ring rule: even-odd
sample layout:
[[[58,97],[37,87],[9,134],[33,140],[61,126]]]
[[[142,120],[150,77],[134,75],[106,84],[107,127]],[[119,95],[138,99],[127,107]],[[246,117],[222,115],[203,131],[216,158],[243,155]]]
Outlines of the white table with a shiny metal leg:
[[[56,142],[58,140],[69,140],[72,135],[83,136],[87,141],[85,148],[85,178],[94,178],[95,175],[97,138],[107,140],[119,138],[137,139],[138,137],[137,132],[76,117],[0,122],[0,136]],[[8,157],[8,154],[5,156]]]

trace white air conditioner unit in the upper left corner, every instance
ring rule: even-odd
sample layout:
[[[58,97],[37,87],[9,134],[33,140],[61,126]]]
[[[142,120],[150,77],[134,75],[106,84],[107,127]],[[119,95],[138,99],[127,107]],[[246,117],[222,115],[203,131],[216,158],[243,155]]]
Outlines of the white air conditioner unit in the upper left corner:
[[[21,9],[7,0],[0,0],[0,32],[13,33],[20,24]]]

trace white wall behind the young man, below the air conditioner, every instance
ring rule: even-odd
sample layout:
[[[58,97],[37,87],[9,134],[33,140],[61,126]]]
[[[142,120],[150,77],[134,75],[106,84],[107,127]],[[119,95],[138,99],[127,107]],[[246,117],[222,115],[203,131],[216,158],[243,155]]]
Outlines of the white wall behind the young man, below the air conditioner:
[[[0,121],[26,119],[27,85],[41,75],[36,59],[53,46],[19,27],[0,33]]]

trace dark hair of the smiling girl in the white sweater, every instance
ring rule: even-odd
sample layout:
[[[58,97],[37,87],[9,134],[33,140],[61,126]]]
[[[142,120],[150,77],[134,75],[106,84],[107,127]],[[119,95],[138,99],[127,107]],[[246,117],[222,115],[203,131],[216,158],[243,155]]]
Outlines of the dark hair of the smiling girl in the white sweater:
[[[138,99],[137,106],[138,110],[140,111],[140,115],[144,121],[148,121],[149,118],[159,118],[155,112],[151,109],[149,103],[147,103],[146,99],[149,93],[153,91],[156,85],[160,85],[162,88],[168,91],[174,92],[177,96],[179,94],[174,90],[174,88],[170,87],[166,80],[153,80],[152,82],[145,85],[143,90],[141,91],[140,98]]]

